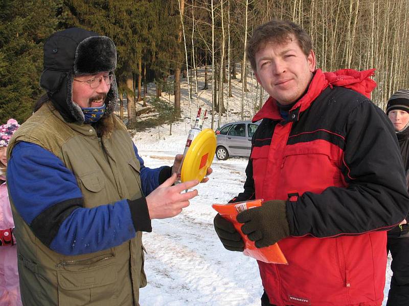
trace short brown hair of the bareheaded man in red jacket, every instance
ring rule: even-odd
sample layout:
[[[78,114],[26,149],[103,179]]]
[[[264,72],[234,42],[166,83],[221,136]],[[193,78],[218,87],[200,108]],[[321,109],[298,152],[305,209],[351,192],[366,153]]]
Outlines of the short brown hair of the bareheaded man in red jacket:
[[[285,43],[292,41],[292,36],[296,38],[303,53],[308,56],[312,50],[311,37],[300,25],[289,20],[270,20],[254,31],[253,36],[247,44],[247,59],[250,61],[254,71],[257,71],[256,53],[267,43]]]

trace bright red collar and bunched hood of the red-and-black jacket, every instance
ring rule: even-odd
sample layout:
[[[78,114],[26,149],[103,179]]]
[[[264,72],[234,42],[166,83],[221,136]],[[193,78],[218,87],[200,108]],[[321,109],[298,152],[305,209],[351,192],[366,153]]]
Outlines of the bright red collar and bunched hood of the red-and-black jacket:
[[[371,92],[376,87],[376,82],[370,78],[374,75],[374,71],[375,69],[363,71],[340,69],[334,72],[323,72],[321,69],[317,69],[308,85],[307,92],[294,104],[291,110],[300,108],[299,112],[305,111],[328,86],[331,88],[333,86],[349,88],[370,98]],[[272,120],[282,119],[277,101],[271,96],[264,103],[260,111],[253,117],[252,121],[256,122],[263,118]]]

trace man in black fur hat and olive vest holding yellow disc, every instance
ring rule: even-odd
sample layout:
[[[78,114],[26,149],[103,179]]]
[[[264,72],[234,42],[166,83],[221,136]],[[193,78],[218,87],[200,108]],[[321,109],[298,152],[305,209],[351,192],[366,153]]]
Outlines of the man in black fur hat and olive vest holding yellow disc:
[[[116,47],[78,28],[44,44],[47,98],[9,143],[8,181],[24,305],[138,305],[142,232],[173,217],[199,182],[149,169],[113,115]],[[211,172],[208,171],[208,172]]]

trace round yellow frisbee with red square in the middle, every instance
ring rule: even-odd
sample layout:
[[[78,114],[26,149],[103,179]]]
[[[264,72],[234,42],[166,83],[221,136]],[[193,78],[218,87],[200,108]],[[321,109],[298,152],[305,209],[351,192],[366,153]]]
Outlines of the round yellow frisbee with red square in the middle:
[[[216,136],[212,129],[197,134],[190,145],[180,171],[180,181],[203,180],[216,152]]]

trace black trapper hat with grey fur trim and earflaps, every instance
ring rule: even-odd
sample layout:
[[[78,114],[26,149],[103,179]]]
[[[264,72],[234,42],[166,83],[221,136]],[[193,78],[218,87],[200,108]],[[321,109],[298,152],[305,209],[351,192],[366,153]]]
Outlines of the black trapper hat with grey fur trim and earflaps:
[[[73,80],[76,75],[112,72],[117,66],[117,48],[112,40],[80,28],[66,29],[44,43],[44,67],[40,86],[67,122],[84,122],[81,108],[74,103]],[[115,109],[118,88],[115,80],[106,95],[109,116]]]

